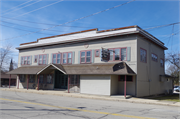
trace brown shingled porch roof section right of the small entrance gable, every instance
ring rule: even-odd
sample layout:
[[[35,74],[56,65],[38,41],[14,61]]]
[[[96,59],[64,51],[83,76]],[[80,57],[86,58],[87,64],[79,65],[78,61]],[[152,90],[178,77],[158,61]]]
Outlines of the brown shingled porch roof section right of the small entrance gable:
[[[63,65],[63,68],[67,74],[135,74],[125,62]]]

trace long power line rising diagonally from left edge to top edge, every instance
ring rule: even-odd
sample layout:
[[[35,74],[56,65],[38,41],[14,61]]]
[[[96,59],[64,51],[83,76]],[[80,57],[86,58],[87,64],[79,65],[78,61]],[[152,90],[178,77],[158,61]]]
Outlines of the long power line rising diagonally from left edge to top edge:
[[[69,21],[69,22],[65,22],[63,24],[59,24],[59,25],[55,25],[55,26],[52,26],[52,27],[49,27],[49,28],[46,28],[46,29],[41,29],[41,30],[38,30],[38,31],[35,31],[35,32],[30,32],[30,33],[27,33],[27,34],[24,34],[24,35],[20,35],[20,36],[15,36],[13,38],[19,38],[19,37],[22,37],[22,36],[26,36],[26,35],[30,35],[30,34],[33,34],[33,33],[38,33],[40,31],[45,31],[45,30],[49,30],[49,29],[52,29],[52,28],[55,28],[55,27],[58,27],[58,26],[62,26],[62,25],[65,25],[65,24],[69,24],[69,23],[72,23],[72,22],[75,22],[75,21],[78,21],[78,20],[81,20],[81,19],[85,19],[85,18],[88,18],[88,17],[91,17],[91,16],[94,16],[94,15],[97,15],[97,14],[100,14],[100,13],[103,13],[103,12],[106,12],[106,11],[109,11],[109,10],[112,10],[112,9],[115,9],[117,7],[120,7],[120,6],[123,6],[123,5],[126,5],[128,3],[131,3],[135,0],[131,0],[131,1],[128,1],[126,3],[123,3],[123,4],[120,4],[120,5],[117,5],[117,6],[114,6],[114,7],[111,7],[111,8],[108,8],[108,9],[105,9],[105,10],[102,10],[102,11],[99,11],[99,12],[96,12],[96,13],[93,13],[93,14],[90,14],[90,15],[87,15],[87,16],[84,16],[84,17],[81,17],[81,18],[78,18],[78,19],[75,19],[75,20],[72,20],[72,21]],[[9,39],[12,39],[12,38],[7,38],[7,39],[3,39],[3,40],[9,40]],[[1,40],[2,41],[2,40]]]

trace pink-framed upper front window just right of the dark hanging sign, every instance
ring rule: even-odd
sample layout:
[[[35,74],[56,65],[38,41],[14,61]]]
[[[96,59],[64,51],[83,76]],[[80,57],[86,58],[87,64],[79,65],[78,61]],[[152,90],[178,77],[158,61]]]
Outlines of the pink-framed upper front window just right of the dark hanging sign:
[[[127,60],[127,48],[109,49],[110,61],[124,61]]]

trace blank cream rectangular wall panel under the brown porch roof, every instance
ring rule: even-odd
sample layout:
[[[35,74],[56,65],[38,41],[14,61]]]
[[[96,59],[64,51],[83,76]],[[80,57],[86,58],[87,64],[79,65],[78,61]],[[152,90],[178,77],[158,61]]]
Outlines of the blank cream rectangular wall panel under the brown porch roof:
[[[81,75],[80,93],[110,96],[110,75]]]

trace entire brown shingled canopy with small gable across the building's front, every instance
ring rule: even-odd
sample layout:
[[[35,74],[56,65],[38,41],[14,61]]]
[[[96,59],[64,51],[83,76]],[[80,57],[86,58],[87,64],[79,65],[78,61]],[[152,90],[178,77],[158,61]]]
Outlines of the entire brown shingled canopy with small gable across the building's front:
[[[135,72],[125,63],[94,63],[94,64],[49,64],[39,66],[23,66],[7,74],[46,74],[52,70],[59,70],[63,74],[109,74],[109,75],[135,75]]]

